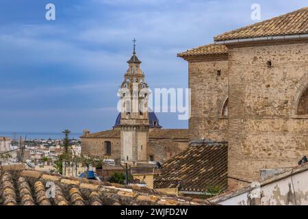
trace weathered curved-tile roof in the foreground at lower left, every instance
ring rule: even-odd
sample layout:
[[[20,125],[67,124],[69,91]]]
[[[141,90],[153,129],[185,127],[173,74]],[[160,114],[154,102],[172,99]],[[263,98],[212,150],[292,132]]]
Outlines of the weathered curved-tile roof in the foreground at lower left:
[[[49,183],[49,184],[47,184]],[[54,183],[55,196],[47,190]],[[0,205],[209,205],[137,185],[63,177],[35,170],[0,170]]]

